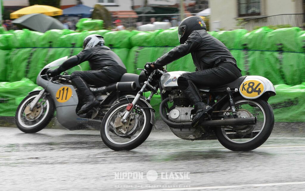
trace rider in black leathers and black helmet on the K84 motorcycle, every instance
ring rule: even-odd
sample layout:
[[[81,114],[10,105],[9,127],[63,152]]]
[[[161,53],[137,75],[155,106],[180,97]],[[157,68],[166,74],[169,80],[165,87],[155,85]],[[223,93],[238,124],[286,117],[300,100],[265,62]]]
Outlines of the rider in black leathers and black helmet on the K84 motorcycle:
[[[203,103],[196,86],[210,88],[221,86],[236,80],[242,74],[227,47],[206,32],[206,25],[201,17],[192,16],[182,20],[178,28],[178,37],[179,46],[155,62],[148,62],[145,65],[162,68],[191,53],[196,72],[184,73],[178,77],[177,83],[195,107],[196,116],[192,120],[192,126],[197,127],[206,114],[213,112],[213,108]]]

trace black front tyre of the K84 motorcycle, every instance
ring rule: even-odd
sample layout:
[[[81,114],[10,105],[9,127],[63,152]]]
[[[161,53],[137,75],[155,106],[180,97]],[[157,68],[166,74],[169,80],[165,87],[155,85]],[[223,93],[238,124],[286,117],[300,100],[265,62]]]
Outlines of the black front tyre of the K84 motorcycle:
[[[114,105],[105,115],[104,119],[102,120],[102,124],[101,124],[101,137],[103,142],[105,143],[105,145],[107,147],[109,147],[110,149],[114,150],[114,151],[121,151],[121,150],[132,150],[137,148],[139,145],[141,145],[149,136],[151,130],[152,130],[152,124],[150,123],[151,120],[151,113],[149,111],[149,109],[144,109],[144,113],[146,116],[146,122],[145,122],[145,126],[143,127],[144,130],[142,131],[142,133],[132,142],[127,143],[127,144],[116,144],[112,141],[110,141],[107,136],[106,136],[106,121],[109,118],[110,114],[115,111],[117,108],[119,108],[122,105],[126,105],[129,102],[127,100],[121,101],[119,103],[117,103],[116,105]],[[143,102],[143,101],[139,101],[138,102],[138,106],[142,107],[142,108],[147,108],[147,105]]]

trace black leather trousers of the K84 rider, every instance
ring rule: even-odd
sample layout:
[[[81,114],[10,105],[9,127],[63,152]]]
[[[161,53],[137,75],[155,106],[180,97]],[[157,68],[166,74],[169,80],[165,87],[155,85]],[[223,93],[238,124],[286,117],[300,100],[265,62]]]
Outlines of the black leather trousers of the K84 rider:
[[[185,73],[177,79],[177,83],[194,105],[201,101],[198,100],[200,95],[196,87],[214,88],[233,82],[241,76],[242,74],[235,64],[221,63],[214,68]]]

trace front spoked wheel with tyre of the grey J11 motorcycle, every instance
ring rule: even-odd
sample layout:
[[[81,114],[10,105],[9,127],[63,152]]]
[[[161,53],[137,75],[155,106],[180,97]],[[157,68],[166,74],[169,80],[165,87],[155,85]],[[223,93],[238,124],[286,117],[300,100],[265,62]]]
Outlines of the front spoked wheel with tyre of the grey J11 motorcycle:
[[[42,97],[33,111],[30,111],[30,103],[38,94],[39,92],[30,93],[17,108],[16,125],[24,133],[36,133],[42,130],[54,115],[54,103],[49,95]]]

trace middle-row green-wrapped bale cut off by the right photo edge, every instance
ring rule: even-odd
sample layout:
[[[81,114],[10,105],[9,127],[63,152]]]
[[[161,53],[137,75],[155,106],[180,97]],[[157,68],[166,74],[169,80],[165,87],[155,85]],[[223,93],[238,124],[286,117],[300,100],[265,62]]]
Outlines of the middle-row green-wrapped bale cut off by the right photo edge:
[[[282,65],[286,84],[305,82],[305,54],[284,52]]]

